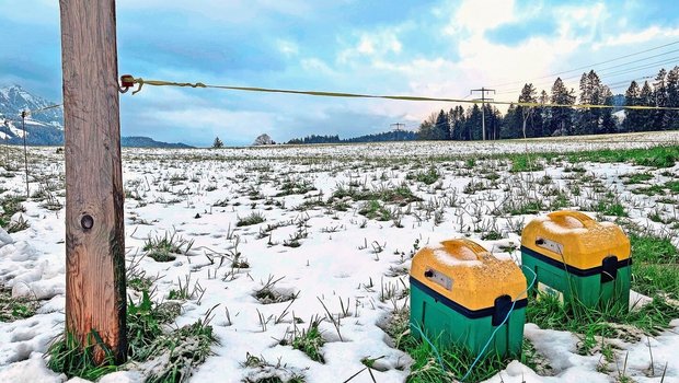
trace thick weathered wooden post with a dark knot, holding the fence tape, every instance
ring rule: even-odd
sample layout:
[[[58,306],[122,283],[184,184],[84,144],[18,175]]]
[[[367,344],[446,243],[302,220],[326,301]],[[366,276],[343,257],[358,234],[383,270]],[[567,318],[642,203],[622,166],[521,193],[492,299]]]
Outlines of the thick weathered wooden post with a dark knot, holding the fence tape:
[[[115,0],[60,0],[66,136],[66,330],[126,357]],[[101,348],[95,358],[104,358]]]

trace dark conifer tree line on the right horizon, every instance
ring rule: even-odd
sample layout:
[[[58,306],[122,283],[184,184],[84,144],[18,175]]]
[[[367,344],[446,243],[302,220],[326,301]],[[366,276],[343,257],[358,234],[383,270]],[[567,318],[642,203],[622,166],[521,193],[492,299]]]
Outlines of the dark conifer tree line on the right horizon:
[[[644,81],[641,86],[632,81],[624,96],[613,95],[597,72],[590,70],[580,77],[577,94],[557,78],[550,93],[545,90],[538,93],[532,83],[525,84],[517,102],[560,105],[577,103],[595,107],[530,107],[511,104],[503,115],[495,106],[485,104],[483,112],[487,139],[678,129],[677,111],[624,109],[622,118],[613,113],[623,105],[679,107],[679,66],[669,71],[660,69],[653,82]],[[597,105],[613,107],[598,108]],[[480,140],[483,137],[481,107],[474,104],[467,109],[454,106],[448,112],[435,112],[419,125],[417,137],[422,140]]]

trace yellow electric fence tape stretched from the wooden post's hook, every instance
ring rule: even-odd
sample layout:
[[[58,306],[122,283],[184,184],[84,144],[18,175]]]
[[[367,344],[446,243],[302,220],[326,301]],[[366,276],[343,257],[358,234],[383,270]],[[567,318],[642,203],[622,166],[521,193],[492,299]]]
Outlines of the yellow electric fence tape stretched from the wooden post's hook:
[[[446,103],[459,103],[459,104],[481,104],[481,100],[463,100],[463,98],[446,98],[446,97],[424,97],[424,96],[408,96],[408,95],[376,95],[376,94],[360,94],[360,93],[343,93],[343,92],[324,92],[324,91],[297,91],[287,89],[272,89],[272,88],[255,88],[255,86],[228,86],[228,85],[210,85],[203,82],[174,82],[162,80],[145,80],[142,78],[134,78],[131,76],[125,76],[124,82],[131,82],[139,85],[139,88],[133,92],[137,94],[141,91],[145,84],[153,86],[191,86],[191,88],[210,88],[210,89],[225,89],[230,91],[244,91],[244,92],[264,92],[264,93],[286,93],[286,94],[303,94],[310,96],[320,97],[345,97],[345,98],[384,98],[384,100],[400,100],[400,101],[437,101]],[[654,111],[679,111],[679,107],[668,106],[646,106],[646,105],[626,105],[626,106],[613,106],[613,105],[592,105],[592,104],[542,104],[542,103],[518,103],[509,101],[485,101],[485,104],[495,105],[515,105],[515,106],[529,106],[529,107],[577,107],[577,108],[613,108],[621,107],[625,109],[654,109]]]

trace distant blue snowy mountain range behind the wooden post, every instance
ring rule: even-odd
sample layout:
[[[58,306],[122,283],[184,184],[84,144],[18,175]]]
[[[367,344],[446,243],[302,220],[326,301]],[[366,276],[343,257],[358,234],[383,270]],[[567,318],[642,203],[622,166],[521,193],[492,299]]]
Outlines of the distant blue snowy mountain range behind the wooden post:
[[[46,109],[26,118],[26,130],[22,129],[21,112],[37,111],[54,105],[43,97],[21,88],[11,85],[0,88],[0,140],[2,143],[22,144],[24,134],[26,142],[33,146],[64,144],[64,109]],[[193,148],[184,143],[156,141],[149,137],[122,137],[123,147],[135,148]]]

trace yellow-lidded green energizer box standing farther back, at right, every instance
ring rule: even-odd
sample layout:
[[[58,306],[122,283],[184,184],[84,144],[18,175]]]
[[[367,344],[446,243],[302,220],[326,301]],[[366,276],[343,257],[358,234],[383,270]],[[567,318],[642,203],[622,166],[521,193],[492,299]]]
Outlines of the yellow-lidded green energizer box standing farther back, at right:
[[[572,210],[534,219],[521,235],[521,263],[543,292],[588,307],[629,307],[630,240],[617,224]]]

